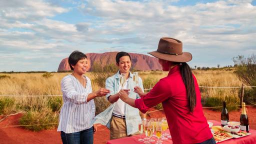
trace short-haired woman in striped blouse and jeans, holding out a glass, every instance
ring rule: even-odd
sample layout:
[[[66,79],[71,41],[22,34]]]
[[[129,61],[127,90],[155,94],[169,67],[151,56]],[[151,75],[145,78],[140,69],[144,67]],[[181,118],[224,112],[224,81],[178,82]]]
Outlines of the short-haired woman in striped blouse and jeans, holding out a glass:
[[[106,88],[92,92],[91,82],[83,76],[88,68],[87,56],[80,51],[73,51],[68,57],[68,63],[73,70],[61,80],[63,105],[59,114],[57,131],[63,143],[93,143],[91,124],[95,116],[93,98],[105,96],[110,91]]]

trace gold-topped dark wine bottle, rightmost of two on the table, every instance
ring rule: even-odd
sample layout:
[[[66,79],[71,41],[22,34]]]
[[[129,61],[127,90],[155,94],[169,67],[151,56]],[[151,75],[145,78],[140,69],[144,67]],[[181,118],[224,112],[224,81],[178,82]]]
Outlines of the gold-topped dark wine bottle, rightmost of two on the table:
[[[242,102],[242,113],[240,115],[240,129],[249,132],[249,119],[245,110],[245,103]]]

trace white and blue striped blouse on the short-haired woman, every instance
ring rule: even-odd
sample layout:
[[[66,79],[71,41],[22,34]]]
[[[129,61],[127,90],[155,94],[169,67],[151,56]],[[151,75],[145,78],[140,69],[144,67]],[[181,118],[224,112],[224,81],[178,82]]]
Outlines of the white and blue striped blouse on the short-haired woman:
[[[86,101],[92,92],[91,82],[86,79],[86,88],[71,74],[61,80],[63,93],[63,105],[59,114],[57,131],[65,133],[78,132],[92,126],[91,121],[95,116],[95,104],[93,99]]]

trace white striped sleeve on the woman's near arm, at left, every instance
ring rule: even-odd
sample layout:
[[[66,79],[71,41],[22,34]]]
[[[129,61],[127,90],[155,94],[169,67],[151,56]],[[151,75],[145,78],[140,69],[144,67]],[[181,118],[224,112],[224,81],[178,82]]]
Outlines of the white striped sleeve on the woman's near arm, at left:
[[[72,99],[76,104],[87,103],[89,91],[79,93],[75,90],[72,79],[64,77],[61,80],[61,91],[67,98]]]

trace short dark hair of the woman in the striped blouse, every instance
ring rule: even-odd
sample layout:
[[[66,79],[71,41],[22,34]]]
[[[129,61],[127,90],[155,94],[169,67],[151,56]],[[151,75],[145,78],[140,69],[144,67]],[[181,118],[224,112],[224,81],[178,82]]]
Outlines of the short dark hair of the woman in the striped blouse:
[[[71,70],[74,70],[72,65],[75,65],[77,63],[77,61],[79,61],[81,59],[85,59],[85,58],[87,58],[87,56],[84,53],[82,53],[81,51],[78,51],[78,50],[74,50],[68,56],[68,63],[69,63]]]

